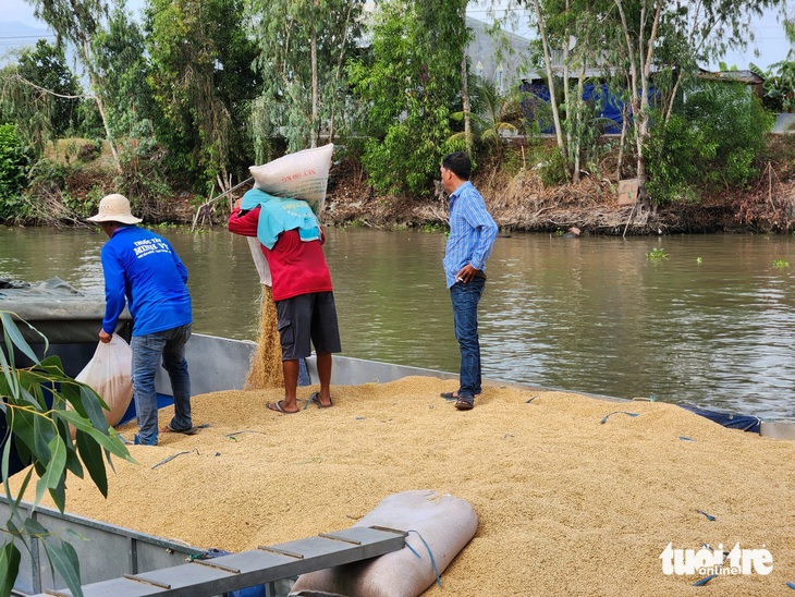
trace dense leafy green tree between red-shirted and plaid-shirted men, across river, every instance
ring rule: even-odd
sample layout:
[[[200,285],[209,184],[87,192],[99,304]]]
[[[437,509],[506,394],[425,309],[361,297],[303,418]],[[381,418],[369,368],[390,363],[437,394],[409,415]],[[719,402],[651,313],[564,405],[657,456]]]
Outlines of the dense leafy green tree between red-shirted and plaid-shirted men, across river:
[[[363,162],[381,192],[428,193],[450,148],[468,37],[465,7],[461,0],[379,4],[371,52],[348,65],[354,93],[369,108]]]

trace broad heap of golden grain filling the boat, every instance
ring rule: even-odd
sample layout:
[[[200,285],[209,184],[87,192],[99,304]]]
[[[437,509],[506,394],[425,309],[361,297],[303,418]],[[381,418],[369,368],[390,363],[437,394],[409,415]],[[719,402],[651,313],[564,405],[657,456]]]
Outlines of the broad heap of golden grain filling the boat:
[[[432,489],[472,503],[479,526],[428,596],[793,594],[795,442],[671,404],[513,387],[486,387],[458,412],[439,398],[453,389],[426,377],[332,387],[332,409],[296,415],[266,411],[277,389],[194,397],[194,424],[209,428],[130,446],[138,464],[114,459],[107,501],[70,477],[66,509],[243,551],[347,528],[386,496]],[[663,574],[669,544],[705,543],[766,548],[773,571],[699,588],[701,575]]]

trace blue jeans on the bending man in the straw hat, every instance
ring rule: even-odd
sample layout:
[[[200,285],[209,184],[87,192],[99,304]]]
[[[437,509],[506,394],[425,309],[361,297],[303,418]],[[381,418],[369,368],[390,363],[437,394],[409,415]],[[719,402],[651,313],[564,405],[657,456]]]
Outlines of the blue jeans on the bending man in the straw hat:
[[[156,333],[133,336],[130,345],[133,349],[133,397],[138,415],[136,443],[157,444],[159,429],[155,374],[161,358],[174,394],[174,418],[171,419],[171,427],[187,429],[193,426],[191,377],[185,361],[185,343],[188,338],[191,324]]]

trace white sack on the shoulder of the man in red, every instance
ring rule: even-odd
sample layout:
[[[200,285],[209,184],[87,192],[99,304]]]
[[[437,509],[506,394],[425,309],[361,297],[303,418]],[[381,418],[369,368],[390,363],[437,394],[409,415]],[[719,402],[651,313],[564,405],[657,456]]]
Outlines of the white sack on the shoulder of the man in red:
[[[293,197],[309,204],[320,215],[329,184],[329,169],[334,145],[303,149],[269,161],[252,166],[254,187],[278,197]]]

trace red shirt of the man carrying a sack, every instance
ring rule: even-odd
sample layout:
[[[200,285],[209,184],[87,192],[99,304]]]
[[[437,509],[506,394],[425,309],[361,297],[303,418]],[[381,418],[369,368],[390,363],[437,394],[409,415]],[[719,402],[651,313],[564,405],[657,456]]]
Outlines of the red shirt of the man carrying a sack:
[[[259,210],[259,207],[255,207],[242,216],[238,209],[232,211],[229,231],[243,236],[256,236]],[[270,266],[273,301],[311,292],[331,292],[331,273],[322,248],[325,240],[321,230],[319,241],[302,241],[295,229],[279,234],[272,249],[260,244]]]

